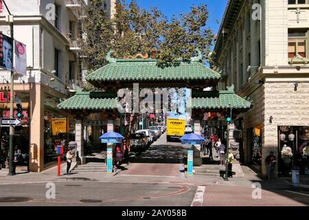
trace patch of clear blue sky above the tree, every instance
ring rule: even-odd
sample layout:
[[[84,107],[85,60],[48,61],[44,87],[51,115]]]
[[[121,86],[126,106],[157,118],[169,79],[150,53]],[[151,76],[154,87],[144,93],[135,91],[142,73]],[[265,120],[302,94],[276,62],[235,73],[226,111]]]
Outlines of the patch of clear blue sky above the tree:
[[[130,0],[126,0],[126,3],[129,2]],[[146,9],[155,6],[168,17],[180,12],[190,12],[192,5],[205,3],[209,11],[207,25],[213,30],[214,34],[217,34],[220,23],[218,24],[216,21],[221,22],[227,0],[137,0],[137,3],[141,8]]]

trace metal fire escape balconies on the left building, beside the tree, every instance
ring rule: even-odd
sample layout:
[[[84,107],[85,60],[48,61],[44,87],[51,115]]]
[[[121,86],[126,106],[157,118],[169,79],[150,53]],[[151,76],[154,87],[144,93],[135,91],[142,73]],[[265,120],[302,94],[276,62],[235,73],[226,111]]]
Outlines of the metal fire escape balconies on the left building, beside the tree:
[[[87,54],[84,52],[86,34],[84,30],[85,19],[87,19],[87,4],[84,0],[66,0],[66,6],[77,18],[77,35],[69,34],[69,50],[76,54],[77,78],[69,79],[69,91],[76,91],[76,87],[83,87],[85,72],[87,71]]]

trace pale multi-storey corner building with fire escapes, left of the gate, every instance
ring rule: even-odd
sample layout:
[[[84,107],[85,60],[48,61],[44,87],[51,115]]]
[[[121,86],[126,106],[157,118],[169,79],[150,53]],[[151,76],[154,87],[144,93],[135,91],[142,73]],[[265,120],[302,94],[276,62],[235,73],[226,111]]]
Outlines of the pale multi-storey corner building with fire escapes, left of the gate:
[[[27,75],[14,76],[15,98],[21,100],[23,108],[23,126],[15,129],[14,144],[19,144],[22,153],[28,153],[29,169],[41,172],[56,162],[56,140],[62,144],[75,140],[75,119],[60,111],[57,104],[73,95],[87,72],[82,45],[86,40],[83,28],[89,1],[5,2],[14,17],[14,39],[24,43],[27,52]],[[113,3],[106,1],[104,9],[111,10]],[[8,10],[4,6],[0,31],[10,36]],[[0,78],[1,118],[7,118],[10,72],[0,70]],[[5,147],[8,128],[1,127],[0,131]]]

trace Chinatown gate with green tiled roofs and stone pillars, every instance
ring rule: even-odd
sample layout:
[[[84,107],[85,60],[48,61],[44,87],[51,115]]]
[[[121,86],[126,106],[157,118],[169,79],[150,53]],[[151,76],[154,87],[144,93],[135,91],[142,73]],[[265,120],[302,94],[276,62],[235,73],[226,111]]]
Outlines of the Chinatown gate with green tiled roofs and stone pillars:
[[[111,57],[111,52],[106,55],[107,65],[87,75],[86,80],[102,91],[82,91],[78,89],[76,94],[58,104],[58,108],[65,110],[76,118],[76,142],[78,144],[78,164],[85,163],[84,157],[84,126],[87,116],[91,113],[100,113],[101,120],[106,121],[107,131],[123,130],[115,129],[115,121],[122,118],[119,113],[119,89],[132,89],[133,84],[138,83],[139,88],[187,88],[191,89],[191,118],[194,120],[194,133],[201,133],[201,125],[207,124],[205,115],[217,113],[225,115],[232,109],[232,118],[236,118],[241,112],[252,107],[251,102],[236,95],[233,85],[225,91],[216,90],[220,80],[220,74],[209,69],[203,64],[202,54],[198,50],[198,56],[190,58],[190,61],[179,61],[180,65],[174,67],[157,67],[157,61],[151,58],[125,58]],[[206,87],[212,87],[211,91],[203,91]],[[141,101],[139,99],[139,101]],[[120,122],[122,124],[122,121]],[[234,129],[233,120],[230,131]],[[225,126],[226,127],[226,126]],[[233,135],[229,135],[232,137]],[[231,140],[230,140],[231,141]],[[233,141],[233,140],[232,140]],[[197,155],[197,149],[196,155]],[[195,153],[194,153],[195,155]],[[199,155],[199,154],[198,154]],[[194,159],[199,166],[201,162]]]

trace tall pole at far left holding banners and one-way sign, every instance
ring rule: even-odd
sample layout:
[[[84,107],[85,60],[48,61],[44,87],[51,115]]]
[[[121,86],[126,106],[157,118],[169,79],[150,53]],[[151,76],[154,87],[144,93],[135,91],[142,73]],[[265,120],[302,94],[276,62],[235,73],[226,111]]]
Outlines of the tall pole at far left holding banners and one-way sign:
[[[10,33],[11,33],[11,39],[13,39],[13,48],[15,47],[14,44],[14,23],[13,23],[13,16],[10,12],[10,10],[8,9],[8,5],[6,5],[5,1],[3,0],[3,3],[5,5],[6,10],[8,10],[9,13],[9,22],[10,22]],[[12,19],[12,21],[11,21]],[[13,50],[14,51],[14,50]],[[12,119],[14,117],[13,111],[14,111],[14,52],[12,53],[12,70],[11,70],[11,85],[10,85],[10,94],[11,94],[11,98],[10,98],[10,119]],[[10,126],[10,150],[9,150],[9,160],[10,160],[10,164],[9,164],[9,173],[8,175],[14,175],[13,173],[13,159],[14,159],[14,144],[13,144],[13,140],[14,140],[14,126]]]

